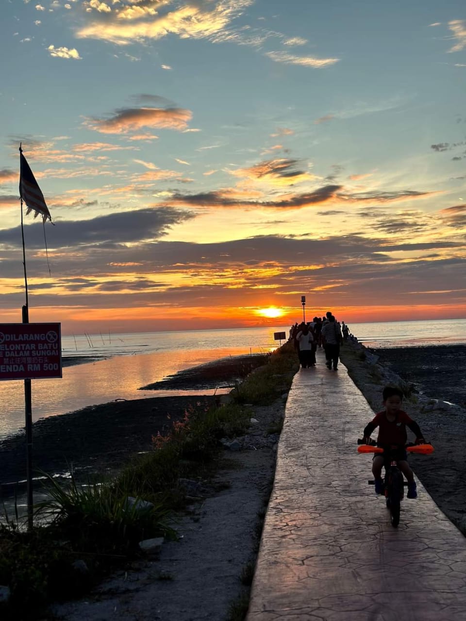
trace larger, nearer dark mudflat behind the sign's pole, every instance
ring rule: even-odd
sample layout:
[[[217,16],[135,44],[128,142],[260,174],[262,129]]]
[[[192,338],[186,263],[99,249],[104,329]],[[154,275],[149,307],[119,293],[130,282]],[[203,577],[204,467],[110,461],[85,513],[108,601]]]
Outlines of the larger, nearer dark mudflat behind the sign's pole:
[[[32,426],[34,469],[57,474],[72,467],[78,479],[112,473],[135,453],[151,450],[152,435],[183,417],[186,407],[209,399],[200,395],[113,401],[40,419]],[[2,495],[11,494],[9,484],[25,476],[23,432],[0,442]]]

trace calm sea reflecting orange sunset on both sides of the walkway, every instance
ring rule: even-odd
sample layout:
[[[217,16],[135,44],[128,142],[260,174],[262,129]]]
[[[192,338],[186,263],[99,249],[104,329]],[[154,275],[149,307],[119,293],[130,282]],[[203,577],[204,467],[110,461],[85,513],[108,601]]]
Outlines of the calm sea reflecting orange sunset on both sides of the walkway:
[[[414,347],[466,343],[466,319],[350,324],[371,347]],[[63,368],[61,379],[32,380],[32,417],[65,414],[114,399],[171,396],[180,391],[139,391],[140,386],[217,358],[273,350],[274,332],[290,326],[76,335],[63,337],[63,357],[101,356],[101,360]],[[0,438],[24,427],[22,381],[0,382]]]

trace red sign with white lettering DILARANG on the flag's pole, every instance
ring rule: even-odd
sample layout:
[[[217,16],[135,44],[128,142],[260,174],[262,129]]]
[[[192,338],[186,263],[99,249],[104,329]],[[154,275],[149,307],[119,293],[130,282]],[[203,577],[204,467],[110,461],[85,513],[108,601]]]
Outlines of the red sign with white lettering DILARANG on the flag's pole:
[[[62,377],[61,324],[0,324],[0,380]]]

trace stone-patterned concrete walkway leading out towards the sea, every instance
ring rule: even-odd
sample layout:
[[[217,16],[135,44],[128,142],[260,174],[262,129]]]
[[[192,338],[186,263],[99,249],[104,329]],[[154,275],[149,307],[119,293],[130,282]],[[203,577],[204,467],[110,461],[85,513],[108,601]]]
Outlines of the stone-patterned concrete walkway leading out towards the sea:
[[[357,453],[372,417],[345,367],[328,371],[321,351],[296,374],[248,621],[466,619],[466,538],[419,481],[390,525],[367,484],[372,456]]]

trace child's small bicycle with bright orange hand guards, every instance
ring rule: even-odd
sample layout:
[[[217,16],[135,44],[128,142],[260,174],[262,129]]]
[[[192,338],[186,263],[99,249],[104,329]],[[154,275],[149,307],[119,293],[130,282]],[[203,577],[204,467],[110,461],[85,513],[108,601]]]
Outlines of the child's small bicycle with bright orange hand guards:
[[[377,446],[375,440],[370,440],[367,444],[363,440],[358,440],[358,453],[385,453],[383,467],[385,468],[385,477],[383,478],[383,486],[381,494],[385,494],[386,506],[390,509],[390,522],[393,527],[400,524],[400,502],[404,497],[404,486],[408,485],[403,479],[403,474],[396,461],[396,450],[398,446],[391,446],[390,450],[383,450]],[[408,453],[417,453],[420,455],[431,455],[434,447],[431,444],[413,444],[406,445]],[[375,481],[368,481],[369,485],[373,485]]]

